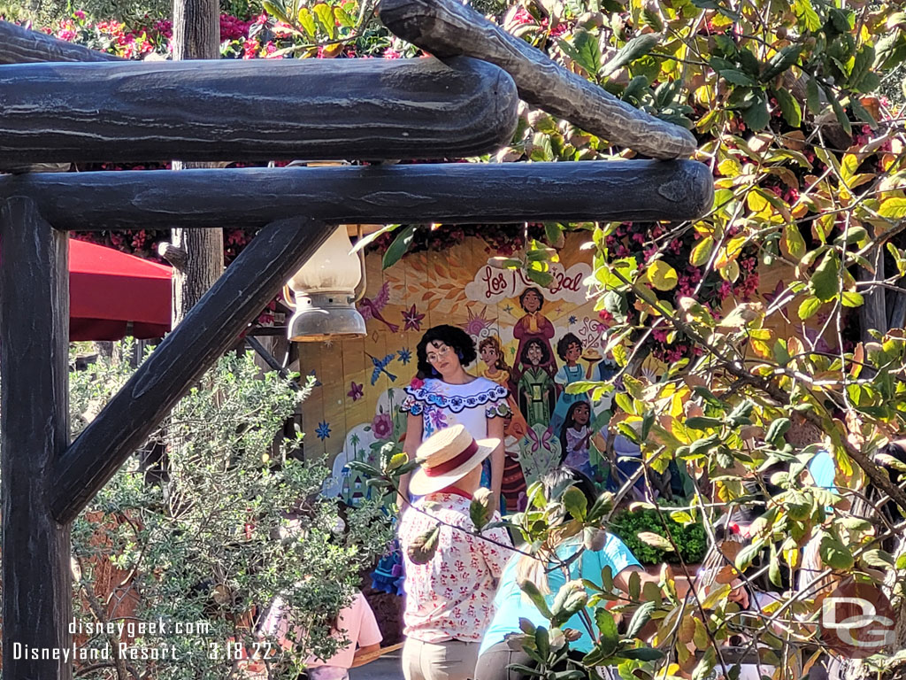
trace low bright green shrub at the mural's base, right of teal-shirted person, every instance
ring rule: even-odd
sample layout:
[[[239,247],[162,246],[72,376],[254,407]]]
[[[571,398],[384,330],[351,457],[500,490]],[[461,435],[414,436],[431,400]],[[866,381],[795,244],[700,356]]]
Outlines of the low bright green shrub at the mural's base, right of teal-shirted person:
[[[670,536],[679,548],[679,555],[673,551],[655,548],[639,539],[641,531],[650,531],[666,538],[664,523],[667,524]],[[699,522],[679,524],[670,518],[666,510],[661,510],[660,514],[653,508],[622,510],[613,516],[608,529],[622,539],[642,564],[661,564],[665,561],[677,563],[680,557],[686,564],[698,564],[708,551],[708,537]]]

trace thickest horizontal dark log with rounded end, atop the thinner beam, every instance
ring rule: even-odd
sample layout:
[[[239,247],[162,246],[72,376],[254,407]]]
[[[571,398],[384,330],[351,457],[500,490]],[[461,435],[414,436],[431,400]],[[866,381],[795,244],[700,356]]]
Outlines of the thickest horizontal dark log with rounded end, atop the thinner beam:
[[[510,141],[517,104],[467,57],[13,64],[0,164],[458,158]]]

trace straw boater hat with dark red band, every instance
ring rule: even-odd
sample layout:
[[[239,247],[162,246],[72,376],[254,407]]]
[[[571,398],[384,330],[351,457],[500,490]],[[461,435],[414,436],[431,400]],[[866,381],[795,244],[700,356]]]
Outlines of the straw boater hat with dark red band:
[[[499,439],[480,439],[476,442],[461,424],[435,432],[421,442],[415,452],[421,467],[412,475],[410,491],[417,496],[425,496],[461,480],[499,443]]]

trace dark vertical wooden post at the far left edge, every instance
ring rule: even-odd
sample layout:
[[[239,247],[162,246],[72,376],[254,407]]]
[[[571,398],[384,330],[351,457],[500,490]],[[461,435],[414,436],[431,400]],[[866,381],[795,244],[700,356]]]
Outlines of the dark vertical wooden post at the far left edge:
[[[53,465],[69,444],[68,240],[29,199],[6,200],[0,209],[0,550],[8,678],[72,677],[62,659],[23,654],[72,645],[70,531],[50,510]]]

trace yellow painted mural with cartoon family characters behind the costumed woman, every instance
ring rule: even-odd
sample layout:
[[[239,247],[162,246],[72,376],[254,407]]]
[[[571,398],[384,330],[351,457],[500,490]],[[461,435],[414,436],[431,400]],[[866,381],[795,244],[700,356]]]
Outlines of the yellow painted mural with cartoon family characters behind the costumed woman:
[[[402,441],[406,414],[399,406],[417,371],[415,348],[439,324],[458,325],[475,340],[478,360],[467,366],[469,373],[511,393],[507,471],[520,468],[529,483],[561,462],[600,474],[594,434],[606,426],[610,404],[592,406],[584,395],[564,391],[614,368],[602,356],[604,328],[585,297],[583,279],[592,272],[590,251],[580,249],[585,240],[568,238],[549,287],[490,267],[496,252],[478,238],[409,255],[384,271],[379,255],[368,257],[367,293],[359,305],[368,335],[305,345],[301,360],[302,373],[317,379],[304,403],[305,450],[333,458],[325,492],[352,502],[368,496],[364,481],[345,465],[376,463],[384,442]],[[517,485],[506,494],[509,509],[519,507],[523,491]]]

